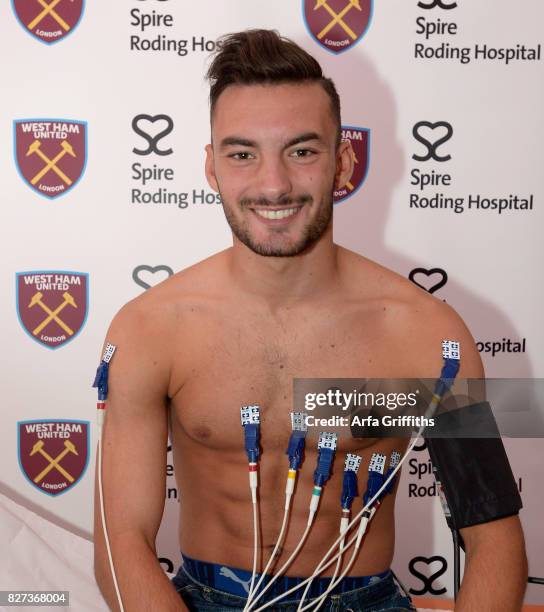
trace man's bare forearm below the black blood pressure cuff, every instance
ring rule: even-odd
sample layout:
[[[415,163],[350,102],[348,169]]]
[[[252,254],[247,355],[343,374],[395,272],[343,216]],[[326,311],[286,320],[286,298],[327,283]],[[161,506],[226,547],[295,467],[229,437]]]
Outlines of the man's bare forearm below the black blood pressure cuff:
[[[509,536],[506,541],[493,538],[467,548],[456,612],[521,610],[527,585],[527,558],[523,536]]]

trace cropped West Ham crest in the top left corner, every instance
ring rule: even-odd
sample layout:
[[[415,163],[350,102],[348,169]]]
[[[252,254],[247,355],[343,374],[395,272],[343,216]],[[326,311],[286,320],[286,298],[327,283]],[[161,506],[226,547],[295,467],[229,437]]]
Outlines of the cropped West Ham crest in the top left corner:
[[[84,0],[11,0],[23,28],[48,45],[71,34],[81,19]]]

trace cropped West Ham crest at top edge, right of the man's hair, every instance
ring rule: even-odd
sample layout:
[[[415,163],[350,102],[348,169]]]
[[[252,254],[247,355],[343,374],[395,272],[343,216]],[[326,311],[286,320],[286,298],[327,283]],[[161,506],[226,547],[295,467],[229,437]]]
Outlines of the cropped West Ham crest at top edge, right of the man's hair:
[[[327,51],[342,53],[365,35],[372,0],[302,0],[302,10],[312,37]]]

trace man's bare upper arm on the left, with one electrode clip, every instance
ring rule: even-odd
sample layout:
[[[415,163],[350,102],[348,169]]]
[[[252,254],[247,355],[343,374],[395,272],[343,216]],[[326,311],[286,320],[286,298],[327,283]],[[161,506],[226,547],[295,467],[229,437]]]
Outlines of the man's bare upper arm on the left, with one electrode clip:
[[[103,432],[102,482],[110,542],[127,532],[154,548],[164,510],[169,363],[157,322],[134,303],[114,318]],[[97,463],[98,467],[98,463]],[[97,479],[98,482],[98,479]],[[95,558],[104,553],[98,490]]]

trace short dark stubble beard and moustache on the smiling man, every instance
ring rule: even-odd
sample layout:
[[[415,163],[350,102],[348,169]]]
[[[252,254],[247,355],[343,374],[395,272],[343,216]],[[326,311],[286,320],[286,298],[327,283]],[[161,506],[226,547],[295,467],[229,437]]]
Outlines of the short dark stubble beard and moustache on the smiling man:
[[[267,202],[263,199],[245,199],[240,202],[240,208],[242,208],[242,210],[247,209],[250,205],[255,204],[258,204],[259,206],[284,206],[289,204],[303,204],[305,206],[312,206],[313,201],[314,200],[312,196],[310,196],[309,194],[301,195],[298,198],[285,198],[277,202]],[[314,245],[329,228],[332,221],[333,190],[331,189],[330,195],[327,197],[326,201],[320,205],[318,214],[315,219],[308,222],[303,228],[300,238],[296,242],[293,241],[290,244],[275,245],[273,244],[273,240],[271,240],[270,243],[258,242],[250,234],[247,224],[238,221],[238,219],[233,214],[230,206],[228,204],[225,204],[224,199],[223,210],[225,212],[227,223],[229,224],[233,234],[242,244],[245,244],[248,249],[251,249],[257,255],[262,255],[264,257],[294,257],[296,255],[300,255],[306,249],[309,249],[312,245]],[[284,231],[284,228],[270,229],[270,232],[272,234],[281,234]]]

